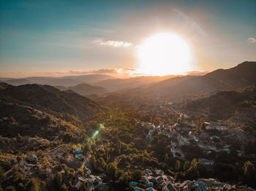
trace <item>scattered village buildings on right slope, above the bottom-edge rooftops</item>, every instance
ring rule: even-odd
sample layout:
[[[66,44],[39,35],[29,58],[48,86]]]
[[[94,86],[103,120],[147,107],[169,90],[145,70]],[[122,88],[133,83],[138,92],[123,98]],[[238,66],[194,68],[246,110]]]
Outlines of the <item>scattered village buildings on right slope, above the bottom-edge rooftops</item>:
[[[200,148],[207,158],[211,158],[212,152],[230,153],[231,150],[234,150],[238,157],[256,158],[256,155],[246,156],[244,152],[243,144],[246,144],[248,134],[241,128],[227,127],[224,122],[204,122],[204,128],[200,133],[195,133],[195,124],[184,121],[174,125],[154,125],[143,122],[142,126],[149,128],[146,138],[150,141],[153,140],[155,134],[162,134],[171,139],[170,152],[173,157],[178,157],[181,160],[187,160],[182,147],[190,145]],[[238,146],[238,142],[243,144]],[[200,159],[198,161],[206,165],[214,164],[213,160]]]

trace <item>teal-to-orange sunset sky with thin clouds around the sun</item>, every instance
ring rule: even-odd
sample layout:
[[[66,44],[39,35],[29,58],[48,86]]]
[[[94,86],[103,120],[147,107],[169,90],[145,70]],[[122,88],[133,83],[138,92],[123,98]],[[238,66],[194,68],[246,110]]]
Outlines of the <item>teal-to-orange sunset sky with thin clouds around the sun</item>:
[[[256,61],[256,1],[0,1],[0,77],[127,75],[157,33],[181,36],[193,70]]]

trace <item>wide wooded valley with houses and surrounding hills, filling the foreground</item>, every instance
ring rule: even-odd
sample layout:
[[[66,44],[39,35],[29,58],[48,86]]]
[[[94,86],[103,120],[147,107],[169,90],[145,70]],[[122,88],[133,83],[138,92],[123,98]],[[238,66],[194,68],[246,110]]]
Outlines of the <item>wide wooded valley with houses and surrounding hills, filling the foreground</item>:
[[[1,82],[1,189],[253,190],[255,66],[99,93]]]

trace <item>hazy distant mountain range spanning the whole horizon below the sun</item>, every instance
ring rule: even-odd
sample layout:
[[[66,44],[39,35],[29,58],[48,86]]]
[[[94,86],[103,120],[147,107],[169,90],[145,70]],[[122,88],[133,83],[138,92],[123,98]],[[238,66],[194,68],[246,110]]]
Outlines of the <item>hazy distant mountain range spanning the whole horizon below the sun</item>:
[[[70,77],[28,77],[2,79],[11,85],[47,84],[60,90],[73,90],[81,95],[119,93],[148,95],[176,99],[189,95],[211,95],[222,90],[236,90],[256,85],[256,62],[246,61],[231,69],[217,69],[201,76],[131,77],[116,79],[108,75],[92,74]],[[133,95],[131,95],[133,96]]]

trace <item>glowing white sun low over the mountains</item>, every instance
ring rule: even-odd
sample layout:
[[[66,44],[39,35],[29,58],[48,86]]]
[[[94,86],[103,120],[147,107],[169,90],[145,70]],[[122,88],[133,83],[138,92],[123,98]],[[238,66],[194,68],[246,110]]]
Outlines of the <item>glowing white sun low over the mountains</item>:
[[[192,52],[176,34],[159,33],[138,46],[138,71],[148,75],[181,74],[192,69]]]

